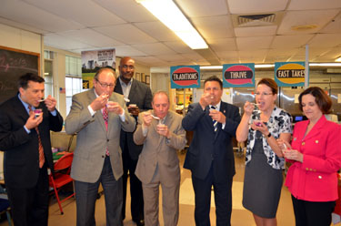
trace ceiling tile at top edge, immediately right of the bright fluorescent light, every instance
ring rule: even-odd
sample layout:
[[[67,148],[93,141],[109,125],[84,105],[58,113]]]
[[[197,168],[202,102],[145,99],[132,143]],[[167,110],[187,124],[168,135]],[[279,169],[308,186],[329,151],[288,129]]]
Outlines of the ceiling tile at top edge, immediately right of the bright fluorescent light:
[[[226,15],[226,0],[176,0],[185,15],[189,17]]]

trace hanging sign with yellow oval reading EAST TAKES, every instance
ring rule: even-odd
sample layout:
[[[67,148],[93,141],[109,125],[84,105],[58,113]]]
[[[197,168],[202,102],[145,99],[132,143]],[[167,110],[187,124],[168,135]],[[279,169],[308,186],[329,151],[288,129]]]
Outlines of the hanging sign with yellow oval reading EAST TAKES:
[[[276,62],[275,81],[278,87],[304,87],[305,62]]]

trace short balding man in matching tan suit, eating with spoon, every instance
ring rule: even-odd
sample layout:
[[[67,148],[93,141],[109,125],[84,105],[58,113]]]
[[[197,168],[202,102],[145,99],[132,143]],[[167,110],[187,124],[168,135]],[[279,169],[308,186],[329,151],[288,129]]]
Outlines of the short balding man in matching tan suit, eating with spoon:
[[[153,110],[139,114],[134,133],[136,144],[144,144],[135,175],[142,181],[145,202],[145,225],[160,225],[158,198],[161,184],[164,225],[176,226],[179,216],[180,169],[177,149],[186,145],[182,117],[169,111],[169,98],[164,91],[156,92]],[[155,119],[158,118],[158,119]]]

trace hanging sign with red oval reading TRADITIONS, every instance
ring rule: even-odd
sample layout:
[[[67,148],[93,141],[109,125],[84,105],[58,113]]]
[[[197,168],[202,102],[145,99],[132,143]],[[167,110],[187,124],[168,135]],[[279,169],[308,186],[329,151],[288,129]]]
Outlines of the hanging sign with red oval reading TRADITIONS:
[[[200,66],[171,67],[171,88],[200,87]]]

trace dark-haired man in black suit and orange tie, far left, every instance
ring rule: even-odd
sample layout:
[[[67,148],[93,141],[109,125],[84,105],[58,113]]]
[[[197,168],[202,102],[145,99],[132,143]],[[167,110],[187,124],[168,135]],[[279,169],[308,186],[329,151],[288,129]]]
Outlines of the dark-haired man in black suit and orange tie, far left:
[[[63,118],[55,98],[42,101],[44,82],[25,74],[19,78],[18,95],[0,106],[0,149],[5,151],[5,185],[15,226],[47,225],[47,168],[54,169],[50,130],[60,131]]]

